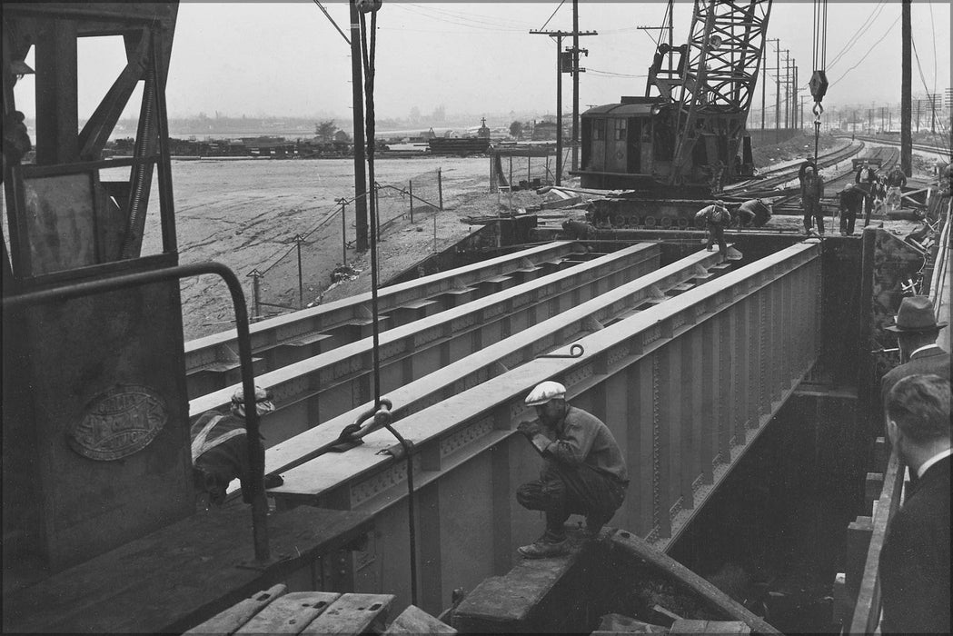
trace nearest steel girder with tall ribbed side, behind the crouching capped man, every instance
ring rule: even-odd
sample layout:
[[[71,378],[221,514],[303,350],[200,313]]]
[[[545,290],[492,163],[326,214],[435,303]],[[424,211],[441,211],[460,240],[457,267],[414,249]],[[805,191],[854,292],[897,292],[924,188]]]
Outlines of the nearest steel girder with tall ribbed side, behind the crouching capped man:
[[[820,347],[821,250],[805,242],[578,340],[579,359],[534,359],[398,421],[413,441],[420,605],[509,570],[542,527],[514,500],[539,460],[515,433],[541,380],[612,429],[632,484],[614,524],[664,548],[810,370]],[[567,347],[568,349],[568,347]],[[355,585],[409,602],[406,468],[385,431],[343,455],[285,473],[279,509],[297,503],[375,515]]]

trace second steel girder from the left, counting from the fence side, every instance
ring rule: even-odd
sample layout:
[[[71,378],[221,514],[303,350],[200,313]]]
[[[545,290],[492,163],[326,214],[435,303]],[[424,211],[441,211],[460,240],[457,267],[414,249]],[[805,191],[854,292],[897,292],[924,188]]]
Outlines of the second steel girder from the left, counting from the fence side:
[[[483,346],[597,297],[659,266],[658,245],[634,245],[537,278],[380,335],[381,393],[416,380]],[[340,415],[374,395],[373,339],[346,344],[260,375],[276,410],[264,421],[266,446]],[[190,416],[229,404],[236,387],[190,402]]]

